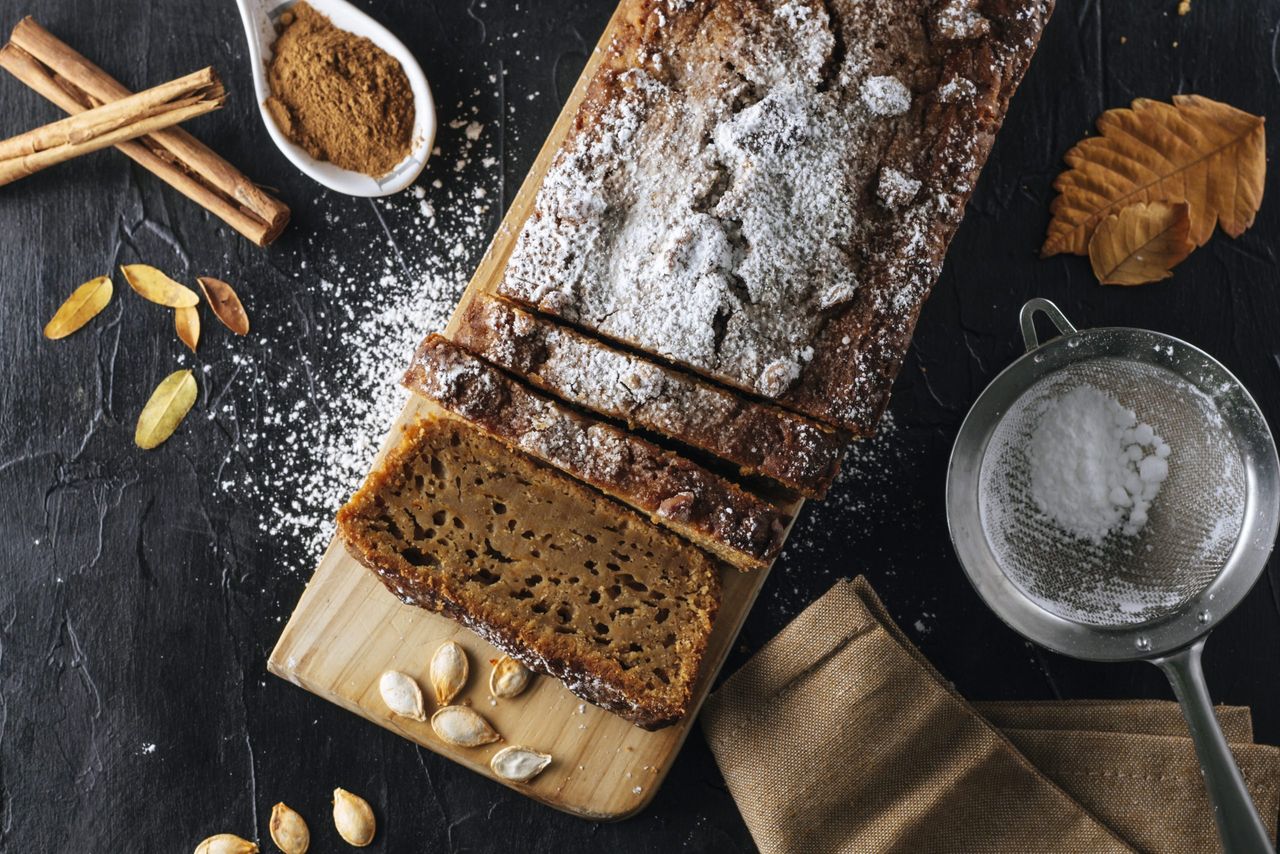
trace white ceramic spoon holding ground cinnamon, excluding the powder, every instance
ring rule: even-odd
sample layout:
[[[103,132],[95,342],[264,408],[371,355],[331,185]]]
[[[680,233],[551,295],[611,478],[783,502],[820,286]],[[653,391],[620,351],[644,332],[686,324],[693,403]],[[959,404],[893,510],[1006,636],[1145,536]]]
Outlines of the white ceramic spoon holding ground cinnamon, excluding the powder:
[[[244,23],[244,36],[248,38],[248,59],[253,67],[253,92],[257,96],[257,109],[262,115],[266,132],[271,134],[276,147],[293,161],[294,166],[329,189],[348,196],[389,196],[404,189],[422,172],[435,140],[435,101],[431,99],[431,87],[426,83],[422,67],[387,27],[346,0],[307,0],[307,3],[316,12],[328,17],[339,29],[369,38],[399,61],[404,76],[408,77],[408,85],[413,90],[413,150],[396,169],[381,178],[372,178],[361,172],[339,169],[332,163],[316,160],[306,150],[289,142],[266,109],[266,99],[271,93],[271,87],[266,82],[266,67],[271,61],[271,45],[276,37],[275,22],[280,13],[293,5],[293,0],[236,0],[236,5],[241,10],[241,20]]]

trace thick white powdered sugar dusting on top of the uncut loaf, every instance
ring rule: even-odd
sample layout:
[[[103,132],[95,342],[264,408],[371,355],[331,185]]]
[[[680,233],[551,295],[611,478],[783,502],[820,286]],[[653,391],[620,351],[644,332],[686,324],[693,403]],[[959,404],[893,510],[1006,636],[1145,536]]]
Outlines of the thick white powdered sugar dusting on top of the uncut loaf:
[[[687,78],[623,73],[630,88],[598,132],[550,170],[503,289],[778,396],[812,359],[823,312],[856,291],[847,197],[865,166],[832,141],[876,117],[823,86],[824,8],[780,3],[756,23],[750,67],[695,52]]]

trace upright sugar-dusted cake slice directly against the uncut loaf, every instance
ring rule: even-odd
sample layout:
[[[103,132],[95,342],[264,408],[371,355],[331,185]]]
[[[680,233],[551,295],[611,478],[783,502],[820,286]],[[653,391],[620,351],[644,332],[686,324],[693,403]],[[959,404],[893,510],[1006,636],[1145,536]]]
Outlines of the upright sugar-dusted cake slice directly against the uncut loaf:
[[[534,385],[822,498],[840,470],[841,437],[777,406],[750,401],[506,300],[476,294],[453,341]]]

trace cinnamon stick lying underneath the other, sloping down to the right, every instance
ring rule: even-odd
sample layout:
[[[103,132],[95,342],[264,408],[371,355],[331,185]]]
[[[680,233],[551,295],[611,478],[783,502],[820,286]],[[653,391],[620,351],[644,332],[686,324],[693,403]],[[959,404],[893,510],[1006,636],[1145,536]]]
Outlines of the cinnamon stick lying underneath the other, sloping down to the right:
[[[0,68],[72,114],[129,95],[32,18],[20,20],[9,44],[0,47]],[[259,246],[279,237],[289,220],[284,202],[180,128],[156,131],[115,147]]]

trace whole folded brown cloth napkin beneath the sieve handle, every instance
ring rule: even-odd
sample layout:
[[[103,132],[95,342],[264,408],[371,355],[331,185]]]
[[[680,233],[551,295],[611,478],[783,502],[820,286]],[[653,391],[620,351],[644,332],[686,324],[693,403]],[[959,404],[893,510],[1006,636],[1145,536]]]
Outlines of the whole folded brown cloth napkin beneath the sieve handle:
[[[965,703],[865,579],[837,583],[708,698],[703,730],[774,851],[1212,851],[1176,704]],[[1132,723],[1125,721],[1125,716]],[[1280,752],[1219,709],[1275,830]],[[1194,784],[1194,785],[1193,785]]]

